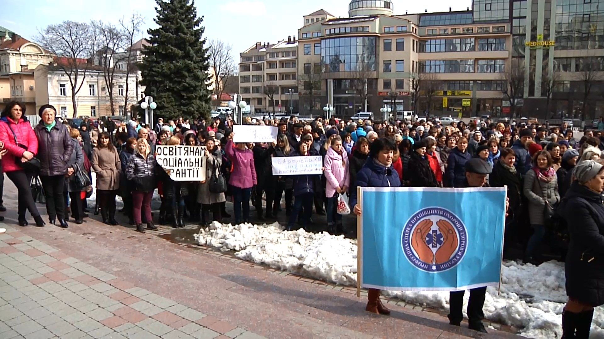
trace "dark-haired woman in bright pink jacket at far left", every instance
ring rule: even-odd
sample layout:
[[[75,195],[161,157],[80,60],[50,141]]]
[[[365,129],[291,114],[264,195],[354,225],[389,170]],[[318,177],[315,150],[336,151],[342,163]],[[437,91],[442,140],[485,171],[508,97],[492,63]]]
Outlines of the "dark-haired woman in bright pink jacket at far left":
[[[25,211],[30,210],[31,216],[36,220],[36,226],[45,225],[36,202],[31,195],[30,182],[34,173],[24,170],[18,162],[27,162],[37,154],[36,133],[31,128],[30,122],[25,117],[25,105],[18,101],[11,101],[4,107],[0,118],[0,141],[8,153],[2,158],[4,173],[19,191],[19,226],[27,226]]]

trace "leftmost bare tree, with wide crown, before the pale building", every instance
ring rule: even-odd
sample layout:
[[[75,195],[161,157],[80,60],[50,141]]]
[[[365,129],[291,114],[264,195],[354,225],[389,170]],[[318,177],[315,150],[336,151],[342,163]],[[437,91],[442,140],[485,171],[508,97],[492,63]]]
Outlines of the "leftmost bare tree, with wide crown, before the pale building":
[[[89,59],[97,51],[94,30],[85,22],[63,21],[39,31],[36,40],[51,54],[57,55],[56,65],[69,79],[73,117],[76,118],[76,95],[86,80],[86,72],[91,66]]]

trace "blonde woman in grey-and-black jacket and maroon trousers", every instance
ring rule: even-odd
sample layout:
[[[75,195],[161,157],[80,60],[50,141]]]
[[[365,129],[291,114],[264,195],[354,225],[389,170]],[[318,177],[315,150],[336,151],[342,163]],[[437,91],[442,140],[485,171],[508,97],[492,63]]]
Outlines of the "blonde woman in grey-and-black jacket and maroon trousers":
[[[144,233],[143,218],[145,214],[147,229],[156,230],[151,216],[151,199],[155,190],[155,156],[147,139],[138,139],[135,153],[128,160],[126,178],[132,182],[132,212],[137,232]]]

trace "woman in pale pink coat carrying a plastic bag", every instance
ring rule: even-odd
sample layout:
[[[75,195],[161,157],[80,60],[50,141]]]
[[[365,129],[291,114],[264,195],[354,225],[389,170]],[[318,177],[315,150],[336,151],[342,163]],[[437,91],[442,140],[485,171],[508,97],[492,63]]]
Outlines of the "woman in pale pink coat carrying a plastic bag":
[[[327,197],[327,230],[331,234],[341,234],[342,215],[336,211],[338,208],[338,195],[345,193],[350,185],[348,171],[348,153],[342,146],[341,136],[332,139],[332,146],[327,150],[323,163],[325,168],[325,196]]]

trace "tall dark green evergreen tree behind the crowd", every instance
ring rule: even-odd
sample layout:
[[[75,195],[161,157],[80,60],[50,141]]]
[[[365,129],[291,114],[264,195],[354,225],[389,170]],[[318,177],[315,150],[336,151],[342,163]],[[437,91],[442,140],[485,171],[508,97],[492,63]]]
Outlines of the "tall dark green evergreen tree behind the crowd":
[[[159,27],[147,31],[151,45],[143,49],[140,64],[145,94],[157,103],[157,117],[208,119],[210,66],[203,17],[197,16],[194,1],[155,1]]]

